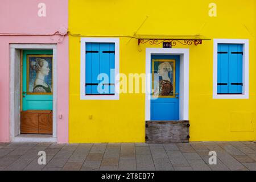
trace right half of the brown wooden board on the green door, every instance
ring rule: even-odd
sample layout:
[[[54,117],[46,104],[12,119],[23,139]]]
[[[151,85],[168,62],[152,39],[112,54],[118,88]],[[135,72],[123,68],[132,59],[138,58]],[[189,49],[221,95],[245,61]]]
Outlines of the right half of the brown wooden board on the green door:
[[[52,134],[52,111],[39,114],[39,134]]]

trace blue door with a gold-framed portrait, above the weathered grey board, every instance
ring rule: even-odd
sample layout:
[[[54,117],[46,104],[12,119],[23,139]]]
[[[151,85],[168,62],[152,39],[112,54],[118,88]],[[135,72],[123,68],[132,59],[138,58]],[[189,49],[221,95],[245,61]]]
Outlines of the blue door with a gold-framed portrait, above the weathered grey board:
[[[151,121],[179,120],[179,56],[151,57]]]

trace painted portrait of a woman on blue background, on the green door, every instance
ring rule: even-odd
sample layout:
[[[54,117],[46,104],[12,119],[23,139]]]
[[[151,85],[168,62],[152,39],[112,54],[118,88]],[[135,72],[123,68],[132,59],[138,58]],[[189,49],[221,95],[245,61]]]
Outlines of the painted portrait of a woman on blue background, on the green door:
[[[30,57],[29,86],[31,93],[52,93],[51,57]]]

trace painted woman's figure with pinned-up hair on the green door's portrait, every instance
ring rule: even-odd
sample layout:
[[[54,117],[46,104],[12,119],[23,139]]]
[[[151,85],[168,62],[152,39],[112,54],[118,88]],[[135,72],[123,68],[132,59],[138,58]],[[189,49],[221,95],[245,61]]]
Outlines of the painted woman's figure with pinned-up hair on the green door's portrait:
[[[32,92],[51,93],[51,86],[46,82],[46,77],[49,76],[49,72],[51,71],[48,61],[46,59],[37,57],[35,60],[30,61],[30,68],[36,72]]]

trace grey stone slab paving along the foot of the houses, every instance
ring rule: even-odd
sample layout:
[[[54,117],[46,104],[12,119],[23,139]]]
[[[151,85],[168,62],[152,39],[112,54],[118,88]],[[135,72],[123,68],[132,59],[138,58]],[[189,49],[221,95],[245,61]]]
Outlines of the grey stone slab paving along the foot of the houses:
[[[46,165],[38,152],[46,152]],[[209,165],[209,151],[217,165]],[[0,143],[3,170],[256,171],[256,142]]]

